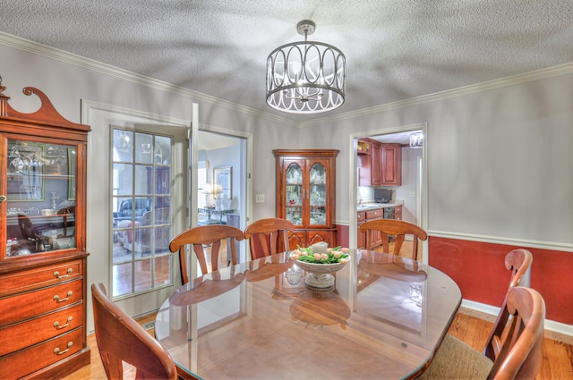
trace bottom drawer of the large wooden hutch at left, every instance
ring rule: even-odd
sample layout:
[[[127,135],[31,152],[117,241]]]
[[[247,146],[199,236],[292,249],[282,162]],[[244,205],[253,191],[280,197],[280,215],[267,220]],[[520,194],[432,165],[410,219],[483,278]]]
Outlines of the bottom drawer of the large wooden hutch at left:
[[[31,374],[78,352],[83,347],[83,327],[55,339],[0,357],[0,378],[13,379]]]

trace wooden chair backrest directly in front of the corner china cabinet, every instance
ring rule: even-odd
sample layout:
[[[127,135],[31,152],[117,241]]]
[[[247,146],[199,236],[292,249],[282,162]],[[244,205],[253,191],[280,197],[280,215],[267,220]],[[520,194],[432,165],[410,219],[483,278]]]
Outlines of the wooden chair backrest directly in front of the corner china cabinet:
[[[295,231],[295,224],[281,218],[261,219],[249,224],[244,239],[249,240],[251,258],[262,258],[288,250],[288,232]]]

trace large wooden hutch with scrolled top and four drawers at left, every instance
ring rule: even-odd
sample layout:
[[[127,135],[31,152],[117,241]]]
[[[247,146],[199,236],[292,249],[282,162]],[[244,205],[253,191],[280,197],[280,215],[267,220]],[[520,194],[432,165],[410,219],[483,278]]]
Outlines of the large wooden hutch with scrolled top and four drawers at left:
[[[86,341],[86,147],[90,126],[41,101],[21,114],[0,78],[0,378],[61,378]]]

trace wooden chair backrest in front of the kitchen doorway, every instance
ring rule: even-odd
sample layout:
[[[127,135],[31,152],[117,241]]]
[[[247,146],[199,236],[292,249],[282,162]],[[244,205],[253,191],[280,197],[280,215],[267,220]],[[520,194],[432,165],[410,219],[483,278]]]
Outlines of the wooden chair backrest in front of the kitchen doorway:
[[[428,234],[417,225],[397,219],[377,219],[370,222],[364,222],[360,225],[360,232],[366,232],[366,249],[372,249],[372,233],[380,233],[382,240],[382,249],[384,252],[399,255],[402,243],[406,235],[414,235],[412,256],[410,258],[418,259],[418,240],[425,241]],[[396,236],[394,249],[389,251],[389,236]]]

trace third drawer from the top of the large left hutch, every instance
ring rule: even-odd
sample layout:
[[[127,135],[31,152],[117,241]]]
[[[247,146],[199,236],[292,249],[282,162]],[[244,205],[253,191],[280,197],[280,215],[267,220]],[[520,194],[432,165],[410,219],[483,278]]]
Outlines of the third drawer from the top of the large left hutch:
[[[21,350],[38,342],[54,338],[80,327],[83,322],[83,304],[64,308],[45,317],[29,319],[17,325],[0,329],[0,356]]]

